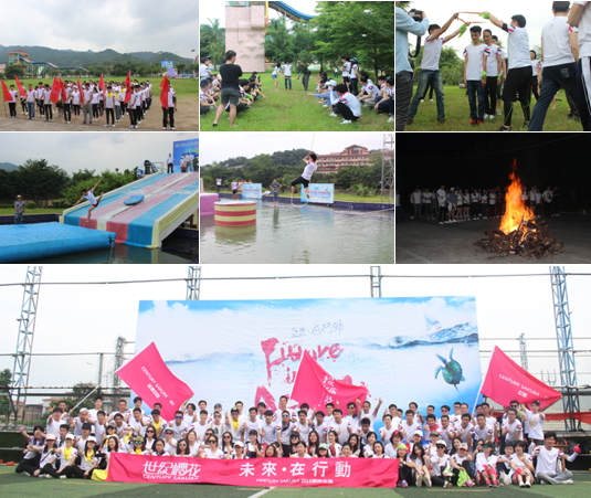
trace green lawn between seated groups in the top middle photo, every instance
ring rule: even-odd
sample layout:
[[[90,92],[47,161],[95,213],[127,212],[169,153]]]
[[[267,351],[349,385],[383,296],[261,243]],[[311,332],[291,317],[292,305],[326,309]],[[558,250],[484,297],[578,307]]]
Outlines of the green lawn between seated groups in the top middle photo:
[[[250,75],[246,75],[246,77]],[[317,78],[310,78],[308,92],[304,92],[302,81],[292,78],[293,91],[285,91],[285,83],[279,80],[275,91],[271,73],[262,74],[263,95],[266,100],[256,100],[254,105],[236,117],[236,128],[230,128],[228,113],[220,118],[219,126],[211,125],[215,109],[201,116],[202,131],[393,131],[394,124],[387,123],[389,116],[378,116],[373,109],[362,107],[363,115],[350,125],[340,125],[342,116],[330,117],[330,109],[317,104],[314,93]],[[296,75],[297,76],[297,75]],[[314,74],[313,74],[314,76]]]

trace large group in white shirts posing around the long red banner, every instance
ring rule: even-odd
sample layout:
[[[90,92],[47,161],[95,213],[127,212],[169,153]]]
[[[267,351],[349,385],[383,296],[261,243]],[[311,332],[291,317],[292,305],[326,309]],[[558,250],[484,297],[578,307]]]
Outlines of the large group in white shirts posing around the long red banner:
[[[373,424],[381,399],[373,410],[369,401],[350,401],[345,416],[338,402],[288,409],[287,396],[281,396],[277,410],[260,402],[247,414],[241,401],[230,413],[221,403],[209,412],[207,401],[197,406],[188,401],[172,421],[160,416],[159,403],[146,415],[141,398],[133,410],[120,400],[107,414],[98,395],[94,409],[81,409],[78,416],[60,402],[32,436],[21,427],[27,447],[17,474],[104,480],[113,453],[221,460],[391,458],[398,460],[400,487],[530,487],[573,484],[563,465],[581,452],[577,446],[567,455],[556,447],[556,433],[543,432],[546,415],[538,401],[511,401],[503,413],[493,413],[487,402],[469,413],[468,404],[457,401],[453,411],[441,406],[440,417],[433,405],[423,414],[414,402],[405,411],[390,404],[378,432]]]

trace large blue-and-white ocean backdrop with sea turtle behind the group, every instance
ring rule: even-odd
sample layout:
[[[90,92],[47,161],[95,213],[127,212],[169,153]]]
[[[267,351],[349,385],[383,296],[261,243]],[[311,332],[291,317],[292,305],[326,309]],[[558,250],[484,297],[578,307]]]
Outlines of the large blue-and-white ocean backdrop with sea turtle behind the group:
[[[152,341],[194,402],[224,412],[236,400],[246,413],[260,401],[277,410],[304,351],[335,380],[367,388],[371,411],[381,398],[380,414],[411,401],[439,414],[473,403],[482,382],[474,297],[140,301],[136,350]]]

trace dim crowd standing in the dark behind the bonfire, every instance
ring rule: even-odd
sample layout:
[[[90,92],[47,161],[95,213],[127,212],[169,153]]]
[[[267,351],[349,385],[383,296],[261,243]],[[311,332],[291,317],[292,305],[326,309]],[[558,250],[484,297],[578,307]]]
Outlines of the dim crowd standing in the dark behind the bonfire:
[[[500,189],[462,189],[441,186],[439,190],[416,186],[410,194],[411,220],[425,219],[439,221],[440,225],[464,221],[487,220],[503,218],[506,209],[507,188]],[[521,189],[524,205],[529,208],[536,218],[560,216],[558,202],[560,193],[558,187],[548,186],[546,190],[534,186]],[[404,209],[400,194],[395,192],[397,222],[404,221]]]

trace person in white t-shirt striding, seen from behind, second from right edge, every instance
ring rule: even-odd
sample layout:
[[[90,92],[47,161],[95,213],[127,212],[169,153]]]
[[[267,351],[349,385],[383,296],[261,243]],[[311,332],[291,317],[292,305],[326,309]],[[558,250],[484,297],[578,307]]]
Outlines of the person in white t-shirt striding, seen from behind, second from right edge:
[[[531,115],[528,131],[542,131],[548,107],[560,88],[571,96],[577,96],[577,61],[579,59],[579,38],[577,28],[569,25],[567,17],[570,2],[553,2],[555,17],[541,32],[540,83],[543,80],[541,95]]]

